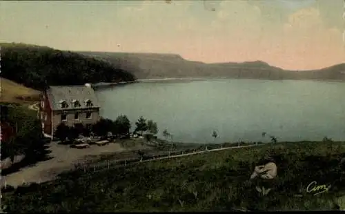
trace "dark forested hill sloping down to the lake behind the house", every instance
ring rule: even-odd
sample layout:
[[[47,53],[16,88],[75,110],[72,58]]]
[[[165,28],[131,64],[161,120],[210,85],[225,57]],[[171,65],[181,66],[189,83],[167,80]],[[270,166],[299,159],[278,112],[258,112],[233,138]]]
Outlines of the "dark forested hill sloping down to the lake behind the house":
[[[0,43],[0,46],[1,77],[29,88],[135,80],[114,62],[109,64],[77,52],[24,43]]]

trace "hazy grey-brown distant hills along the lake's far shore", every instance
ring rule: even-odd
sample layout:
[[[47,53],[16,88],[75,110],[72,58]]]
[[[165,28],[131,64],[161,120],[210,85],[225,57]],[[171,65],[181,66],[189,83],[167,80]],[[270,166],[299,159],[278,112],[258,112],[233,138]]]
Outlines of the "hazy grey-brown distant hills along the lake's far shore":
[[[205,64],[179,55],[126,52],[78,52],[120,65],[138,79],[183,77],[228,77],[244,79],[317,79],[345,81],[345,64],[321,70],[284,70],[264,61]],[[343,72],[343,73],[342,73]]]

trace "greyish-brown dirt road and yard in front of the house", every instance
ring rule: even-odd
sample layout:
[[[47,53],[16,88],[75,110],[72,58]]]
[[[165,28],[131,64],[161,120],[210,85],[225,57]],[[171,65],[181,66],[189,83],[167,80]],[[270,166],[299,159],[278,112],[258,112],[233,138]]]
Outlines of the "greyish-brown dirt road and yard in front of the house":
[[[58,145],[55,142],[50,143],[50,156],[49,159],[44,162],[39,162],[34,166],[28,166],[21,168],[16,173],[11,173],[1,177],[1,187],[5,184],[11,186],[20,186],[21,184],[31,182],[46,182],[51,179],[55,179],[57,175],[63,171],[68,171],[74,168],[77,163],[84,163],[90,157],[96,157],[97,155],[103,155],[107,153],[120,153],[125,150],[137,150],[144,149],[147,146],[132,146],[130,148],[124,148],[119,143],[112,143],[106,146],[92,145],[90,148],[77,149],[70,148],[65,145]]]

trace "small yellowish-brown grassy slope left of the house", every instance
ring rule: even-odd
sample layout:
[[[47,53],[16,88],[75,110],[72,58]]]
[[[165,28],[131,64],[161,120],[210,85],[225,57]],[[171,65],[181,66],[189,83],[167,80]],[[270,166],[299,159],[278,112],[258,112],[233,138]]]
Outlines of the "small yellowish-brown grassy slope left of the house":
[[[27,88],[8,79],[0,78],[0,102],[30,104],[39,101],[39,91]]]

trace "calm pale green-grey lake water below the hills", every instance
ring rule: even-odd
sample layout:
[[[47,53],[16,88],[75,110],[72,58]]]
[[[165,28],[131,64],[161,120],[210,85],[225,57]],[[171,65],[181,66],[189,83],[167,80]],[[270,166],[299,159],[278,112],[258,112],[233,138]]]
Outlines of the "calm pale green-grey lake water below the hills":
[[[101,116],[153,119],[174,141],[345,140],[345,84],[221,79],[150,82],[98,89]],[[267,137],[262,137],[266,132]]]

